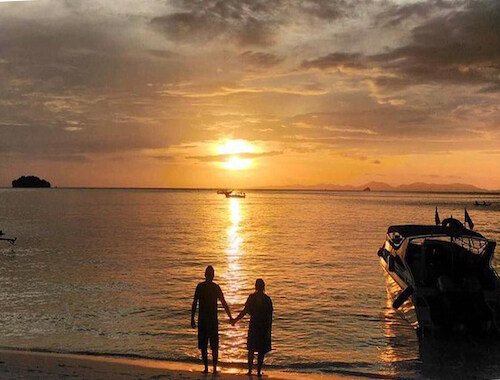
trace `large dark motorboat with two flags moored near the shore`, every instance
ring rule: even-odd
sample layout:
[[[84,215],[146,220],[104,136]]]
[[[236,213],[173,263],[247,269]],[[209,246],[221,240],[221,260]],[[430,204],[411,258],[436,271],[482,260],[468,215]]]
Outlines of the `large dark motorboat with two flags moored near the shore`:
[[[380,264],[392,307],[419,331],[498,331],[496,242],[453,217],[436,225],[390,226]],[[466,225],[469,225],[469,228]]]

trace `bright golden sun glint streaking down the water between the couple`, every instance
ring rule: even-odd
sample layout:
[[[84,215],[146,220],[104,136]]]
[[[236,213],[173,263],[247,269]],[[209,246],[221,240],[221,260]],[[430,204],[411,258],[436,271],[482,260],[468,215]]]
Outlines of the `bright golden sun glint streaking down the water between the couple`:
[[[245,303],[245,285],[249,282],[246,271],[242,270],[241,265],[243,236],[240,232],[240,222],[244,219],[244,216],[240,200],[231,198],[228,203],[229,225],[226,230],[227,247],[225,252],[227,269],[222,274],[222,277],[226,284],[223,288],[224,295],[233,316],[236,316]],[[221,340],[220,352],[223,355],[223,361],[245,362],[246,324],[241,323],[236,326],[230,326],[226,320],[222,320],[221,322],[221,330],[224,338]]]

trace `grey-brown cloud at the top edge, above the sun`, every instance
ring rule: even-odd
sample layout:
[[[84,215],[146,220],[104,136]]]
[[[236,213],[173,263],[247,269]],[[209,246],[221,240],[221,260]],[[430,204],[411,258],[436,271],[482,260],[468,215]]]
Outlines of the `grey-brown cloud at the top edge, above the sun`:
[[[178,0],[178,11],[154,17],[151,24],[178,42],[214,39],[240,46],[269,46],[280,29],[310,19],[332,21],[358,2],[346,0]]]

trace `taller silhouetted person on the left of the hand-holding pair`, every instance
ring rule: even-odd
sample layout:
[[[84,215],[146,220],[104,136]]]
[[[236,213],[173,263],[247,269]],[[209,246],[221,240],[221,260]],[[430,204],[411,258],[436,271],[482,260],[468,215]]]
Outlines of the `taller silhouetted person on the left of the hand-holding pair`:
[[[227,305],[222,290],[214,280],[214,268],[209,265],[205,269],[205,281],[200,282],[194,292],[193,306],[191,308],[191,327],[196,328],[194,315],[196,306],[200,303],[198,312],[198,348],[201,350],[201,357],[205,369],[203,373],[208,373],[208,342],[212,349],[212,359],[214,373],[217,372],[217,361],[219,359],[219,319],[217,315],[217,301],[220,300],[224,310],[232,320],[231,311]]]

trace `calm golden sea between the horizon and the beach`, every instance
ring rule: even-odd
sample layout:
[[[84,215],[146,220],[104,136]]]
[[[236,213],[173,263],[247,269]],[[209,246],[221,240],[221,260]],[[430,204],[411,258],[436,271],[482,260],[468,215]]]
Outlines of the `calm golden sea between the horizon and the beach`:
[[[0,189],[0,345],[198,357],[194,288],[213,264],[233,315],[266,281],[268,363],[387,377],[500,376],[500,348],[420,344],[391,310],[376,255],[387,226],[469,212],[499,240],[500,197],[453,194]],[[475,199],[497,202],[474,208]],[[221,311],[221,361],[245,362],[248,319]]]

